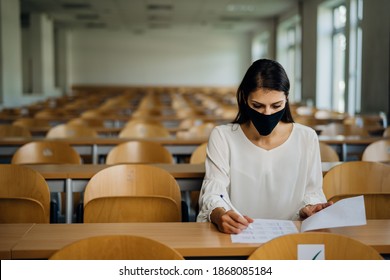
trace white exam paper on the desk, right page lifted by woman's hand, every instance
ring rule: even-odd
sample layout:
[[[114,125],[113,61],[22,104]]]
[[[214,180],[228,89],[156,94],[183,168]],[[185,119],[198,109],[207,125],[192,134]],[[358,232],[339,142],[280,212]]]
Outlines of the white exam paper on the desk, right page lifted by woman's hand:
[[[339,200],[302,222],[301,232],[322,228],[365,225],[364,197],[356,196]],[[231,234],[233,243],[265,243],[281,235],[298,233],[290,220],[255,219],[251,228],[240,234]]]

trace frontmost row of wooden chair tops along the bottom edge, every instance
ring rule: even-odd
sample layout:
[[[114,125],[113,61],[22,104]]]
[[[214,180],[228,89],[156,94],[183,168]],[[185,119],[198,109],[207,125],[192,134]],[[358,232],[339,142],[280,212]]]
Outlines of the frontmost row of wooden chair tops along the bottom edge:
[[[283,235],[260,245],[248,260],[297,260],[300,245],[324,245],[326,260],[383,260],[371,246],[350,237],[325,232]],[[75,241],[50,260],[184,260],[174,248],[134,235],[94,236]]]

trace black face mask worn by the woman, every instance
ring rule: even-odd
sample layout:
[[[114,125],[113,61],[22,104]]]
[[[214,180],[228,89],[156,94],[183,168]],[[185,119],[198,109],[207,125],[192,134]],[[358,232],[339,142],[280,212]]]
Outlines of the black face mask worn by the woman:
[[[272,115],[265,115],[247,106],[248,116],[259,134],[262,136],[267,136],[272,132],[272,130],[274,130],[275,126],[283,117],[285,111],[286,107]]]

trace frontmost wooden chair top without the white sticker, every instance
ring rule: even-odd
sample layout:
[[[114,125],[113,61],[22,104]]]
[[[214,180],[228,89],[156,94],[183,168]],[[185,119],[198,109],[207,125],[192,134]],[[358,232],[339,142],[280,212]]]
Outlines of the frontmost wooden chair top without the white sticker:
[[[184,260],[172,247],[133,235],[94,236],[75,241],[50,260]]]

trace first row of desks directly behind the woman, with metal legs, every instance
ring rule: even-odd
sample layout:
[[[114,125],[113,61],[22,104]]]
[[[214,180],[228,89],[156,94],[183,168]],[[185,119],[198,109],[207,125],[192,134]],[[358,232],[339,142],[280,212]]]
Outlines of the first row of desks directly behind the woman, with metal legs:
[[[341,162],[323,162],[322,170],[326,173]],[[191,191],[199,191],[205,175],[204,164],[151,164],[168,171],[175,177],[188,207],[191,204]],[[100,170],[109,167],[104,164],[37,164],[29,165],[46,179],[51,192],[65,192],[65,222],[72,222],[73,193],[84,192],[89,179]],[[191,213],[192,209],[188,209]]]

